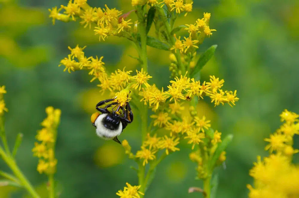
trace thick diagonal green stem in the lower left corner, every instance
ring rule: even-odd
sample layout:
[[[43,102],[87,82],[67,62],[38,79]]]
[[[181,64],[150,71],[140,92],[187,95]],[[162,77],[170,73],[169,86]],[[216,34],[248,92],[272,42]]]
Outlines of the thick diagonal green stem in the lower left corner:
[[[31,194],[33,198],[40,198],[39,195],[36,193],[28,179],[23,175],[20,171],[19,167],[16,165],[16,162],[13,158],[8,156],[2,148],[0,148],[0,156],[2,156],[4,162],[9,166],[9,168],[13,171],[15,176],[19,179],[21,185],[26,188],[26,190]]]

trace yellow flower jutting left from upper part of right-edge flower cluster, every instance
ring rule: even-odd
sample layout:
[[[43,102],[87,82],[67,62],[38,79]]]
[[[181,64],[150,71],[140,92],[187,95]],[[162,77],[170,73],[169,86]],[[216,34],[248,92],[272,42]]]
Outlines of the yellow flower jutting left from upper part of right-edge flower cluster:
[[[288,139],[286,138],[285,134],[270,134],[270,138],[265,138],[264,139],[266,142],[270,142],[269,145],[265,147],[265,150],[270,149],[270,153],[272,153],[274,150],[275,151],[280,151],[282,148],[285,147],[284,142],[286,142]]]

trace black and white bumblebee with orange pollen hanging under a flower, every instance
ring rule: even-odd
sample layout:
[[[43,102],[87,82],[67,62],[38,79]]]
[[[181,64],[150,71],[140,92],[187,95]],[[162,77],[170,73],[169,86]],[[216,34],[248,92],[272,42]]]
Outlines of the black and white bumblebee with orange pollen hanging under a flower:
[[[129,102],[126,102],[124,106],[117,106],[118,102],[113,102],[114,100],[115,98],[98,102],[96,109],[102,114],[98,112],[92,114],[91,123],[96,128],[97,136],[102,139],[113,139],[121,144],[117,136],[133,121],[133,112]],[[111,103],[107,105],[106,103],[109,102]],[[103,105],[106,106],[103,107]],[[112,108],[112,111],[109,111],[108,108],[113,105],[115,106]],[[115,108],[116,110],[114,110]]]

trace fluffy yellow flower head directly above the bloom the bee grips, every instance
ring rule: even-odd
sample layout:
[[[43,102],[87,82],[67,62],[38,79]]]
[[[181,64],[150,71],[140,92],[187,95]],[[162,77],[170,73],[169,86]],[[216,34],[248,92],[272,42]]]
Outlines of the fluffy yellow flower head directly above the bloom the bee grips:
[[[111,73],[110,81],[113,89],[122,90],[126,83],[129,82],[131,78],[130,73],[132,71],[125,71],[125,68],[126,67],[124,67],[123,70],[118,69],[115,73]]]

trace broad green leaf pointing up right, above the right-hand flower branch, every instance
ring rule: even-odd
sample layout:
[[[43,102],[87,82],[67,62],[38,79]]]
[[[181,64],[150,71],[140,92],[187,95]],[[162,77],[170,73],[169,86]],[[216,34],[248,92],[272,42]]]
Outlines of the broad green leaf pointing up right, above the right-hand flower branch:
[[[194,70],[191,72],[191,78],[197,78],[199,76],[199,72],[202,69],[202,67],[207,64],[207,62],[212,58],[212,56],[215,53],[215,50],[217,48],[217,45],[212,45],[207,51],[205,51],[197,61]]]

